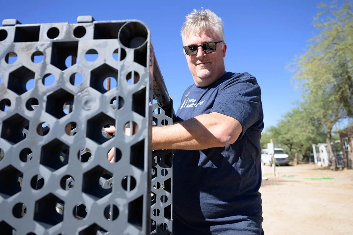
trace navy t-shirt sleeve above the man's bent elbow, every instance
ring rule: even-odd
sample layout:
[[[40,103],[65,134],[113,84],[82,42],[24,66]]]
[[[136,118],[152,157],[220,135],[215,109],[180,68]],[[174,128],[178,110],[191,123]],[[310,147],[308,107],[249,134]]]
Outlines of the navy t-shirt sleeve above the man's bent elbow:
[[[243,127],[241,138],[246,130],[260,117],[261,90],[256,78],[251,75],[240,81],[230,81],[216,96],[211,112],[217,112],[237,119]]]

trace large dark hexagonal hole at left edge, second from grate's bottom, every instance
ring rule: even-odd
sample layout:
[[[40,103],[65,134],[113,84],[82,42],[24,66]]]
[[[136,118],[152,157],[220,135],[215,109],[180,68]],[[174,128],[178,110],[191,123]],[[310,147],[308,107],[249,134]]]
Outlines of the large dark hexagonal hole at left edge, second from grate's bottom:
[[[22,172],[11,165],[0,170],[0,195],[9,198],[21,191],[22,176]]]

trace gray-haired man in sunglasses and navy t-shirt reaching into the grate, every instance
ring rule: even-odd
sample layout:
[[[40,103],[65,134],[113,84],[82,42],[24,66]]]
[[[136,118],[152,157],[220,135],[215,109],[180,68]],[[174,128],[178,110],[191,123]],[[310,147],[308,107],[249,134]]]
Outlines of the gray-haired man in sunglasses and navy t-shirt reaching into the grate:
[[[223,23],[210,10],[187,15],[181,36],[194,84],[178,123],[152,128],[153,149],[175,150],[173,234],[261,235],[260,87],[225,71]]]

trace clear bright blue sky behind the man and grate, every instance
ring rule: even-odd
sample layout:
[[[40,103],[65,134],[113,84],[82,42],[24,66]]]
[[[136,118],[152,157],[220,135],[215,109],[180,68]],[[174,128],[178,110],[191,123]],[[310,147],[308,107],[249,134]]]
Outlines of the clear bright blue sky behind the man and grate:
[[[226,70],[249,72],[262,89],[265,128],[300,99],[285,66],[304,52],[315,28],[319,0],[253,1],[4,1],[0,16],[22,24],[76,23],[79,15],[95,20],[139,19],[151,30],[156,58],[175,106],[192,84],[182,52],[180,29],[192,9],[209,8],[223,19]],[[324,1],[328,2],[328,1]]]

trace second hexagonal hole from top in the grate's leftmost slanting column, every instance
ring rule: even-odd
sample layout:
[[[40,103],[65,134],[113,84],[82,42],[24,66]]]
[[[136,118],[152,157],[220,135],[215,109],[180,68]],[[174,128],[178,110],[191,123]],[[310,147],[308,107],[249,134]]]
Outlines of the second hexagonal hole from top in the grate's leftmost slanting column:
[[[26,138],[24,129],[28,128],[29,121],[19,114],[15,114],[2,122],[1,138],[11,144],[17,144]]]

